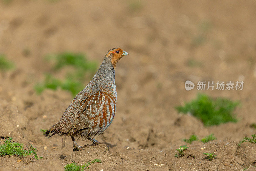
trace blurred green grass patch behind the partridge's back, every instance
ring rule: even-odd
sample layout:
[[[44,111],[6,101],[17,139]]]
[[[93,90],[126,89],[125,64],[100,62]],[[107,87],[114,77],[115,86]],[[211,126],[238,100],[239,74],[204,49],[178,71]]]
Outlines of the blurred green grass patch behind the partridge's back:
[[[38,94],[41,94],[44,89],[61,88],[63,90],[70,91],[72,95],[78,94],[84,89],[83,81],[85,76],[94,74],[97,69],[96,62],[88,61],[83,54],[80,53],[60,53],[57,55],[48,55],[48,59],[53,61],[53,70],[58,72],[61,68],[66,66],[72,66],[73,72],[69,71],[63,80],[55,78],[52,74],[46,74],[44,82],[37,83],[35,90]]]

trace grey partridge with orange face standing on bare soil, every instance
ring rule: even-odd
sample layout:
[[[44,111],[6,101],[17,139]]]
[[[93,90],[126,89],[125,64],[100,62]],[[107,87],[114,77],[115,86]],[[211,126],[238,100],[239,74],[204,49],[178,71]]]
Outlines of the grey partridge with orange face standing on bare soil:
[[[106,130],[116,113],[116,63],[128,55],[121,48],[110,49],[99,70],[88,85],[76,95],[60,120],[45,131],[44,135],[51,137],[55,134],[70,136],[73,147],[83,150],[74,137],[83,137],[93,144],[102,144],[93,139]],[[51,135],[49,135],[52,133]]]

